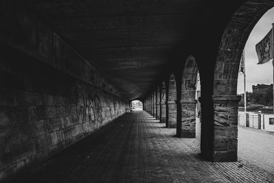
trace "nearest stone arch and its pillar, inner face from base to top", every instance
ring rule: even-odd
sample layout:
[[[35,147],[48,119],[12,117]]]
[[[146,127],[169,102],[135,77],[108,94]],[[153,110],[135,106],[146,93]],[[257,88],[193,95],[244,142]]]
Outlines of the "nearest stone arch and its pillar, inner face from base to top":
[[[212,159],[237,161],[238,156],[238,69],[247,38],[273,1],[247,1],[236,10],[221,38],[214,72],[214,125]]]

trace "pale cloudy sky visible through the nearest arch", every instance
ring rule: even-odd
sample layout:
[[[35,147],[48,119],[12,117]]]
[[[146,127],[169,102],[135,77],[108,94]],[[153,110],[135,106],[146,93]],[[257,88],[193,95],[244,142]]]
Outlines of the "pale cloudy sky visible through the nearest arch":
[[[266,12],[260,21],[258,21],[245,45],[246,88],[249,92],[252,91],[252,85],[273,84],[272,60],[265,64],[257,64],[258,56],[255,49],[255,45],[260,42],[272,28],[272,23],[274,23],[274,8]],[[243,75],[238,75],[237,93],[244,93]]]

